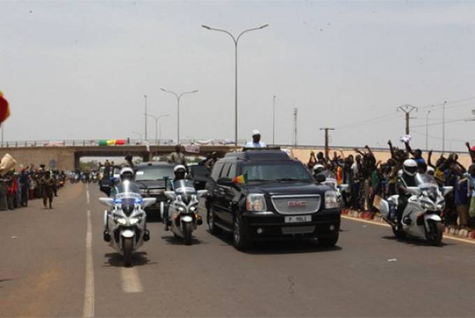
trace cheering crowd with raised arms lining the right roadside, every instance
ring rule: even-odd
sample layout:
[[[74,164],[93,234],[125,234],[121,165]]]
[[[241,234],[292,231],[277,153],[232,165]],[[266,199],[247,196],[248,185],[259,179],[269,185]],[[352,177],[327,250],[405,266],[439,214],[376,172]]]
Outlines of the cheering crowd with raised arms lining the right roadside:
[[[421,150],[413,150],[408,142],[404,144],[401,149],[389,140],[390,158],[386,161],[377,160],[368,146],[364,150],[355,148],[356,154],[348,156],[342,151],[334,152],[333,157],[323,152],[312,152],[307,167],[331,171],[339,184],[349,185],[349,191],[343,194],[346,208],[377,212],[381,198],[399,193],[398,175],[404,161],[413,159],[418,173],[432,175],[440,187],[453,187],[453,191],[446,196],[444,223],[461,228],[475,226],[475,146],[470,147],[466,143],[472,164],[465,167],[458,161],[458,154],[441,154],[434,159],[430,151],[426,161]]]

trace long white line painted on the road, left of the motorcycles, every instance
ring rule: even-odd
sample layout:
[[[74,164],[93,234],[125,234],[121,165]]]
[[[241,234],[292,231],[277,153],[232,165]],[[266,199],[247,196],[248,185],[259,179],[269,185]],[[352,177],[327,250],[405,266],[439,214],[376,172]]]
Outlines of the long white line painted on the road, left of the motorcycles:
[[[87,204],[89,205],[89,188],[86,185]],[[86,286],[82,317],[94,317],[94,263],[92,261],[92,222],[91,210],[87,210],[86,231]]]

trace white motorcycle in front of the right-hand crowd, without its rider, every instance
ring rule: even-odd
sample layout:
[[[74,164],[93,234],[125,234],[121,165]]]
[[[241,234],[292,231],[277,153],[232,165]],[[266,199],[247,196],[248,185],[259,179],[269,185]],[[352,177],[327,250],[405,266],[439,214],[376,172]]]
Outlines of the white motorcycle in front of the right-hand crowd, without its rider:
[[[430,175],[418,173],[415,176],[417,187],[407,187],[411,196],[406,208],[402,212],[402,226],[397,229],[397,199],[391,196],[388,200],[381,200],[381,217],[390,224],[396,238],[414,236],[428,240],[432,245],[439,246],[442,240],[444,226],[440,217],[445,208],[444,196],[449,194],[453,187],[439,189],[437,182]]]

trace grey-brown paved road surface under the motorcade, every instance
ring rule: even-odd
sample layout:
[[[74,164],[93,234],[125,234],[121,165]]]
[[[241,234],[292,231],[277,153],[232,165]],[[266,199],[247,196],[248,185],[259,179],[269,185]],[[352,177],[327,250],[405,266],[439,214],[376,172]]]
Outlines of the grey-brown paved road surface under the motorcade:
[[[242,253],[205,226],[184,246],[155,222],[136,266],[123,268],[102,240],[101,194],[89,185],[88,204],[87,192],[68,185],[53,210],[33,201],[0,211],[1,317],[475,315],[475,245],[398,242],[344,219],[334,249],[306,241]]]

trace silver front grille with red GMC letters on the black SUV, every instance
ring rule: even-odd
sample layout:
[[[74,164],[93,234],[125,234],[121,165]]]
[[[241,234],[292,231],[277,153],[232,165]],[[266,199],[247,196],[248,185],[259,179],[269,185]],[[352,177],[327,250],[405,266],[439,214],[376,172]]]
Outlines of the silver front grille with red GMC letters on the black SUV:
[[[302,215],[317,212],[321,205],[319,194],[300,196],[272,196],[272,204],[277,212],[284,215]]]

